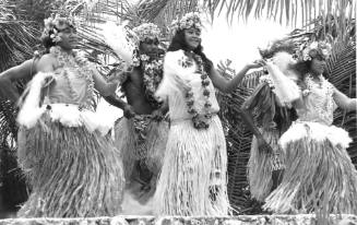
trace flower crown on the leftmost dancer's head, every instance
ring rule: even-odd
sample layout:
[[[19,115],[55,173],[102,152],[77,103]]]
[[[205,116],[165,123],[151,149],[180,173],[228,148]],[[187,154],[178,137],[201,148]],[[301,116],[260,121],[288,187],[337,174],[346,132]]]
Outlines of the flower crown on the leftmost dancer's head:
[[[45,28],[43,36],[50,36],[50,38],[57,43],[59,42],[58,33],[67,27],[75,28],[73,19],[71,17],[61,17],[60,15],[50,16],[45,19]]]

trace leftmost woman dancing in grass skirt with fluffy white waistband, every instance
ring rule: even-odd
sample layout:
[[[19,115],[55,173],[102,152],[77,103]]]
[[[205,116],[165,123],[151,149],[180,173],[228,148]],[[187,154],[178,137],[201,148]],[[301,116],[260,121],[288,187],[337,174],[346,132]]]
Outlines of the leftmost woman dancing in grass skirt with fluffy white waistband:
[[[107,83],[73,50],[78,36],[71,19],[45,20],[41,39],[46,55],[0,75],[15,93],[11,82],[34,74],[17,117],[17,156],[32,193],[17,215],[114,216],[124,185],[121,158],[105,138],[110,123],[94,112],[93,100],[94,88],[110,95],[118,82]]]

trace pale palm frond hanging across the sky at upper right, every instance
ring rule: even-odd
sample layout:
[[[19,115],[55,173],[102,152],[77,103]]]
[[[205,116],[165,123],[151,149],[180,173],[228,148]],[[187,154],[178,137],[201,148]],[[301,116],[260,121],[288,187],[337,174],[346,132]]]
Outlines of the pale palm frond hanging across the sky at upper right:
[[[346,27],[350,26],[349,22],[356,15],[354,0],[203,0],[203,2],[211,11],[212,17],[217,11],[218,14],[225,12],[229,22],[234,17],[247,21],[254,16],[311,29],[313,27],[311,21],[321,19],[323,25],[332,22],[341,37],[346,35]],[[333,29],[323,31],[331,33]]]

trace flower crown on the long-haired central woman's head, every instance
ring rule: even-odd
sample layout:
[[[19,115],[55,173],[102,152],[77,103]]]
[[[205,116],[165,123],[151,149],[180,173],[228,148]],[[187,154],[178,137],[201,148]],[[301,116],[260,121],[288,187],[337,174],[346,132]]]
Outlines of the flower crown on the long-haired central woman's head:
[[[202,29],[203,25],[200,19],[200,13],[189,12],[181,20],[172,21],[170,25],[170,31],[175,34],[176,32],[185,28],[195,27]]]

